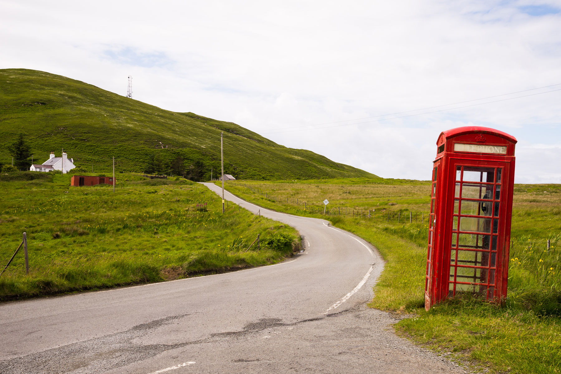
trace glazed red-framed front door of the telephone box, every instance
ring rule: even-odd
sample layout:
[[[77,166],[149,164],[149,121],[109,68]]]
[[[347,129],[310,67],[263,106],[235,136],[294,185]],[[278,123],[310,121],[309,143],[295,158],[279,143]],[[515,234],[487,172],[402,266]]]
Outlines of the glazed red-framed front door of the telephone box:
[[[505,204],[509,191],[509,163],[486,161],[470,165],[467,160],[450,160],[449,175],[454,177],[454,200],[449,222],[450,238],[448,289],[443,294],[479,294],[493,300],[504,296],[503,270],[508,264],[505,239]],[[512,192],[511,192],[512,193]],[[451,235],[450,235],[451,234]],[[497,289],[497,287],[499,289]],[[504,290],[506,292],[506,290]]]

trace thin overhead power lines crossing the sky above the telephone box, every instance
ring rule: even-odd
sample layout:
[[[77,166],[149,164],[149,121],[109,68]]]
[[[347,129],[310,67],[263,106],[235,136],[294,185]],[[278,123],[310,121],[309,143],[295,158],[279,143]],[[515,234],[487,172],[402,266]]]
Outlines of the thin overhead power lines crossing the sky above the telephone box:
[[[553,86],[559,86],[559,85],[561,85],[561,84],[555,84],[555,85],[545,86],[545,87],[553,87]],[[539,90],[539,89],[542,89],[542,88],[545,88],[545,87],[539,87],[539,88],[530,89],[530,90],[518,91],[517,93],[522,93],[522,92],[527,92],[527,91],[532,91],[532,90]],[[416,110],[407,110],[407,111],[405,111],[405,112],[397,112],[397,113],[393,113],[393,114],[381,114],[380,116],[374,116],[374,117],[365,117],[365,118],[357,118],[357,119],[348,119],[347,121],[326,122],[326,123],[319,123],[319,124],[307,124],[307,125],[304,125],[304,126],[283,127],[283,128],[270,129],[270,130],[265,130],[265,131],[287,130],[287,129],[291,129],[291,128],[296,128],[297,130],[263,132],[263,133],[261,133],[261,135],[269,135],[269,134],[283,133],[283,132],[294,132],[294,131],[320,130],[320,129],[322,129],[322,128],[332,128],[332,127],[350,126],[351,124],[364,124],[364,123],[373,123],[373,122],[388,121],[389,119],[399,119],[399,118],[406,118],[406,117],[421,116],[422,114],[431,114],[431,113],[445,112],[445,111],[447,111],[447,110],[454,110],[454,109],[462,109],[462,108],[475,107],[475,106],[477,106],[477,105],[483,105],[483,104],[499,103],[500,101],[507,101],[507,100],[512,100],[512,99],[526,98],[526,97],[528,97],[528,96],[535,96],[535,95],[541,95],[541,94],[548,94],[548,93],[555,92],[555,91],[561,91],[561,89],[550,90],[550,91],[545,91],[545,92],[539,92],[539,93],[529,94],[529,95],[521,95],[521,96],[516,96],[516,97],[514,97],[514,98],[500,99],[500,100],[494,100],[494,101],[486,101],[485,103],[476,103],[476,104],[471,104],[471,105],[463,105],[462,107],[456,107],[456,108],[447,108],[447,109],[433,110],[432,112],[408,114],[407,116],[399,116],[399,117],[391,117],[391,118],[373,119],[372,121],[365,121],[365,122],[344,123],[344,124],[337,124],[337,125],[335,125],[335,126],[325,126],[325,127],[302,128],[302,127],[310,127],[310,126],[321,126],[322,124],[341,123],[341,122],[348,122],[348,121],[359,121],[360,119],[369,119],[369,118],[393,116],[394,114],[410,113],[410,112],[416,112],[416,111],[418,111],[418,110],[426,110],[426,109],[433,109],[433,108],[442,108],[442,107],[448,107],[449,105],[456,105],[456,104],[462,104],[462,103],[470,103],[471,101],[485,100],[485,99],[490,99],[490,98],[498,98],[498,97],[500,97],[500,96],[512,95],[512,94],[516,94],[516,93],[503,94],[503,95],[496,95],[496,96],[489,96],[488,98],[474,99],[474,100],[467,100],[467,101],[460,101],[459,103],[455,103],[455,104],[438,105],[438,106],[436,106],[436,107],[429,107],[429,108],[425,108],[425,109],[416,109]]]

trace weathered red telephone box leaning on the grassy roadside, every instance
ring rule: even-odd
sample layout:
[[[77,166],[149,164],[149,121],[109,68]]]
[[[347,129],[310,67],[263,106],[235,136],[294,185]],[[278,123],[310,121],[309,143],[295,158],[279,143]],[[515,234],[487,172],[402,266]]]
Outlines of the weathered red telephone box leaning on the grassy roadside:
[[[488,127],[444,131],[431,186],[425,309],[446,298],[507,295],[514,145]]]

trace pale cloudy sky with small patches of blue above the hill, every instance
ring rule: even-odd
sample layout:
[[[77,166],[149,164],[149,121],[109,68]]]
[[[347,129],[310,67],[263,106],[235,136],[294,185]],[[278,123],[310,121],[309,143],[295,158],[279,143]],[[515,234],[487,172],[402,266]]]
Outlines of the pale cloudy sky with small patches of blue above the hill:
[[[384,178],[429,179],[441,131],[493,127],[516,182],[561,183],[561,0],[0,0],[0,51]]]

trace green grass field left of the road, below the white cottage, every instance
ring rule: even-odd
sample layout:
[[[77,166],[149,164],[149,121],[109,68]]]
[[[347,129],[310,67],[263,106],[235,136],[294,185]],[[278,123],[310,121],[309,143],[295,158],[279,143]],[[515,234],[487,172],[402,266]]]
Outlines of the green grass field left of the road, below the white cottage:
[[[22,180],[27,179],[27,180]],[[186,179],[119,174],[109,185],[69,187],[70,175],[0,176],[0,300],[163,281],[270,264],[291,256],[298,233],[229,206]],[[249,244],[261,235],[260,248]]]

